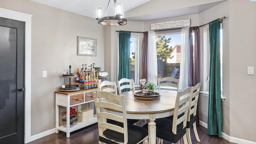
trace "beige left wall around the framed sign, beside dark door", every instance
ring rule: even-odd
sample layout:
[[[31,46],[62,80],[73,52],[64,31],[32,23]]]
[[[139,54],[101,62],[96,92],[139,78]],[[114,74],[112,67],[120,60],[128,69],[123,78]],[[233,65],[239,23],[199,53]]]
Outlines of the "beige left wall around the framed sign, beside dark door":
[[[1,8],[32,14],[31,135],[55,128],[54,91],[64,84],[63,72],[82,64],[104,64],[104,26],[88,18],[30,0],[1,0]],[[97,56],[77,56],[77,36],[97,39]],[[47,78],[42,78],[47,70]],[[68,81],[68,80],[66,80]]]

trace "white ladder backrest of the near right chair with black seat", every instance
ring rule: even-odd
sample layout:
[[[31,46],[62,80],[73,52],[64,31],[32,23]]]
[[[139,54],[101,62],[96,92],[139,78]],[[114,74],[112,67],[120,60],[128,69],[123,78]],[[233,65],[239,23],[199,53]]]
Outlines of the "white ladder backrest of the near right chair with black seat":
[[[188,114],[188,104],[191,96],[191,87],[187,87],[181,92],[177,93],[173,122],[172,122],[172,132],[177,134],[178,125],[182,125],[182,129],[186,129],[187,124],[187,114]],[[184,114],[180,118],[178,117],[180,114]]]

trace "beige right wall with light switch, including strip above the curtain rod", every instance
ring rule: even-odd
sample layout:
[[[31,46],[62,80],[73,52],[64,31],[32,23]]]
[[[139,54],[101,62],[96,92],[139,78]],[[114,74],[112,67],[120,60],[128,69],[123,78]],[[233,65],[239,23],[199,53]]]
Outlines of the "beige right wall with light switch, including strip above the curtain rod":
[[[200,25],[226,16],[223,20],[223,126],[230,142],[256,142],[256,77],[247,66],[256,66],[256,2],[227,0],[202,12]],[[205,101],[205,103],[208,101]]]

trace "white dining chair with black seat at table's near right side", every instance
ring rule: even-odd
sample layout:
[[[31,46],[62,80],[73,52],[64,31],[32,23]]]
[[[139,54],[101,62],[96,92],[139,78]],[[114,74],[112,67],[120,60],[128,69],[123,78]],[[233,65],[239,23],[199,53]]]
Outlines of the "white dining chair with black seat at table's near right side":
[[[155,120],[157,138],[176,144],[183,137],[184,144],[188,144],[186,124],[190,94],[190,86],[177,93],[173,120],[167,118],[158,118]],[[184,115],[178,117],[182,113]],[[148,128],[148,124],[145,124],[143,127]]]

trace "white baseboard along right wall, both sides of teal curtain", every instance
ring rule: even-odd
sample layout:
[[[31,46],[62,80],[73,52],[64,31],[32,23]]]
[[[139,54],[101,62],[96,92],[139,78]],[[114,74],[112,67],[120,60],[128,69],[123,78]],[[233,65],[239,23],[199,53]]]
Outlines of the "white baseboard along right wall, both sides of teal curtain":
[[[201,120],[199,120],[199,124],[205,128],[208,128],[208,125],[205,122],[202,122]],[[234,142],[236,144],[256,144],[256,142],[252,142],[249,140],[243,140],[240,138],[234,138],[232,136],[229,136],[227,134],[225,134],[224,132],[222,132],[222,138],[224,138],[225,140],[229,141],[229,142]]]

